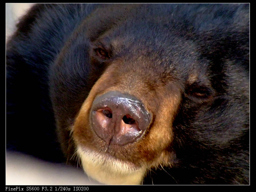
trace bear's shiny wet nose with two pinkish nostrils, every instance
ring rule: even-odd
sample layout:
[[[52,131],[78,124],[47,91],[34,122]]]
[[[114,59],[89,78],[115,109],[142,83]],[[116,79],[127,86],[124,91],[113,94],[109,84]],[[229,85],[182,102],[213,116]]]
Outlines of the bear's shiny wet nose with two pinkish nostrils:
[[[108,144],[125,145],[143,135],[152,115],[136,97],[110,91],[95,98],[90,121],[95,133]]]

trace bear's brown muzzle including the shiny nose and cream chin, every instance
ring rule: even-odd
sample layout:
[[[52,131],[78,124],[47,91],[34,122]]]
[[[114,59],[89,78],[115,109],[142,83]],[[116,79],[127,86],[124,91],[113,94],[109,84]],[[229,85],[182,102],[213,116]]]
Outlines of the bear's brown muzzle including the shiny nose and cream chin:
[[[116,47],[125,43],[121,41]],[[102,59],[100,51],[103,50],[98,50],[101,47],[92,48],[93,65]],[[108,54],[104,50],[104,55]],[[105,58],[107,67],[83,103],[72,131],[89,175],[105,183],[138,184],[149,167],[157,167],[160,163],[169,165],[172,161],[173,152],[166,149],[172,143],[172,122],[180,104],[182,88],[179,82],[172,80],[175,77],[167,65],[167,70],[160,69],[159,75],[156,74],[154,65],[159,65],[153,63],[156,58],[148,60],[142,53],[140,58],[132,53],[117,54],[124,56]],[[144,70],[148,73],[143,73]],[[95,108],[97,103],[100,106]],[[111,117],[102,110],[107,110]],[[125,121],[126,116],[135,122]],[[126,135],[127,138],[122,138]]]

